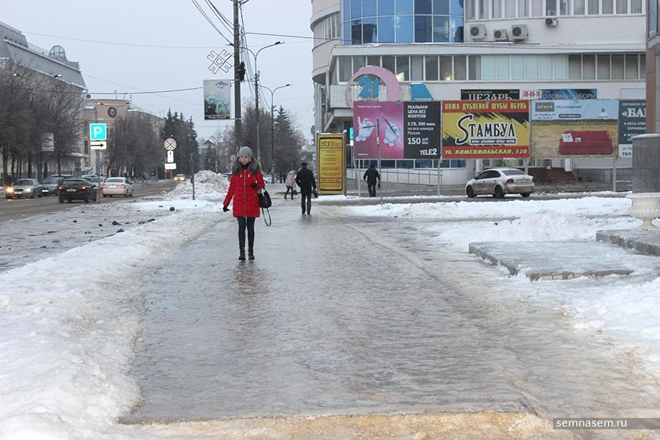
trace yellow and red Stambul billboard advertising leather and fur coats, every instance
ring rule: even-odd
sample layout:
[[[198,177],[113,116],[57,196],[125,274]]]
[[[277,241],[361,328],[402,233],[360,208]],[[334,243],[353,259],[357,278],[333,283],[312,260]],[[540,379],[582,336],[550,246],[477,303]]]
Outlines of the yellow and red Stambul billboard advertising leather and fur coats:
[[[442,158],[529,158],[529,101],[442,101]]]

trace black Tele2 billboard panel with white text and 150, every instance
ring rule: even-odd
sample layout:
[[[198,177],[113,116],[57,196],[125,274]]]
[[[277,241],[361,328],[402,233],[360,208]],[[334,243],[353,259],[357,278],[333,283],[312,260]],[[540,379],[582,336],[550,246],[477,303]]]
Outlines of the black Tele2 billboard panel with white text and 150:
[[[440,101],[404,103],[403,124],[405,159],[440,158]]]

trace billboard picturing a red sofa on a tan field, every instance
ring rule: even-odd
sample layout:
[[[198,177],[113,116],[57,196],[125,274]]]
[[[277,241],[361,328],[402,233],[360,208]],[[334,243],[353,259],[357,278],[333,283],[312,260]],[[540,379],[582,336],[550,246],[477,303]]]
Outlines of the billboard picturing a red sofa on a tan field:
[[[616,99],[533,101],[532,156],[611,156],[619,139],[618,114]]]

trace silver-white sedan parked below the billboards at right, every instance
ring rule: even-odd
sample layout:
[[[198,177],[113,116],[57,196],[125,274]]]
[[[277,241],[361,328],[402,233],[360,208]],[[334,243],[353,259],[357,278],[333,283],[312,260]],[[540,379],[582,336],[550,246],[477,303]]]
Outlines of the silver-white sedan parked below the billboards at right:
[[[519,194],[529,197],[534,193],[534,178],[517,168],[490,168],[479,173],[465,184],[467,197],[489,194],[503,198],[504,194]]]

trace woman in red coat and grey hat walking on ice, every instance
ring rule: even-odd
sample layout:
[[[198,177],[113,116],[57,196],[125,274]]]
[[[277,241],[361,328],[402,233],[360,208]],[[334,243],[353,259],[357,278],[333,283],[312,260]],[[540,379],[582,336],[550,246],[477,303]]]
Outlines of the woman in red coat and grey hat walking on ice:
[[[265,188],[261,168],[252,153],[250,147],[240,147],[238,158],[231,170],[231,181],[223,211],[229,210],[231,199],[233,203],[233,215],[238,220],[238,246],[240,255],[238,260],[245,261],[245,229],[248,230],[248,258],[255,259],[255,218],[259,217],[258,190]]]

